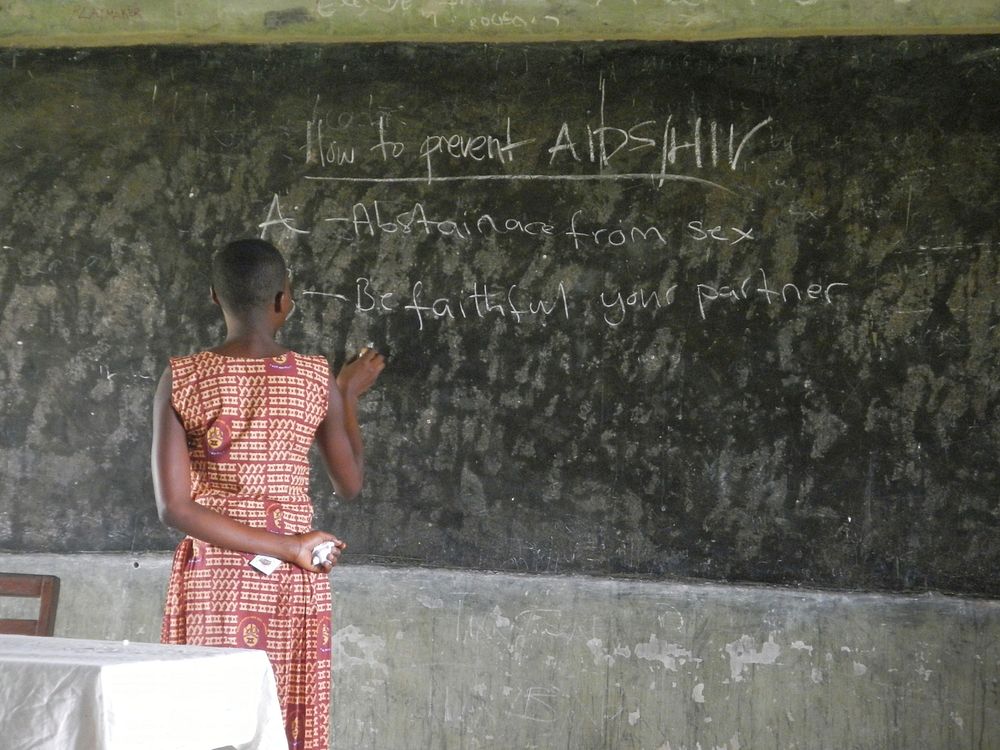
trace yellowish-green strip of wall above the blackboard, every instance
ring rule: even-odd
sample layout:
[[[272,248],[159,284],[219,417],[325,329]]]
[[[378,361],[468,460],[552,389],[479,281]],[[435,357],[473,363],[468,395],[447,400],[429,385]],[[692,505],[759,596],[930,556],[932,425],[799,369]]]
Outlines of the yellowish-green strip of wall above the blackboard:
[[[12,0],[0,44],[726,39],[990,33],[995,0]]]

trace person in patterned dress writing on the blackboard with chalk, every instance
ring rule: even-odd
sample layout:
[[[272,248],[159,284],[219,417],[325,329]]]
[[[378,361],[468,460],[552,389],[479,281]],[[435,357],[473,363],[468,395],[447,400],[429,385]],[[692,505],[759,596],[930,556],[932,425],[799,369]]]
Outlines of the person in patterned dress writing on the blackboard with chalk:
[[[225,317],[225,341],[171,359],[154,400],[156,504],[160,519],[186,534],[174,554],[161,637],[266,650],[289,747],[327,750],[326,574],[346,545],[312,530],[307,454],[315,441],[337,494],[357,495],[364,472],[357,403],[385,361],[362,350],[332,378],[325,358],[278,344],[294,303],[285,262],[263,240],[215,254],[212,298]],[[332,549],[314,558],[323,542]]]

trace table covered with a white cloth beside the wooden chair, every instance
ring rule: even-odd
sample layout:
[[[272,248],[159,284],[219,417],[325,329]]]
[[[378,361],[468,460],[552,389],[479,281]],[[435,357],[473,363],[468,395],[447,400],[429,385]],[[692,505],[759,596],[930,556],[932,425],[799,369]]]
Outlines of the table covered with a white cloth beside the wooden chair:
[[[263,651],[0,635],[5,750],[288,750]]]

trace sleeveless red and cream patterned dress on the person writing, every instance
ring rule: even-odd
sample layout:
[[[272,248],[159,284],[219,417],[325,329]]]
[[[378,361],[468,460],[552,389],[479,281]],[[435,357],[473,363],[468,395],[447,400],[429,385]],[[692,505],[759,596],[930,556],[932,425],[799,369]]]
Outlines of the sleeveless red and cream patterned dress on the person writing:
[[[170,360],[171,401],[187,433],[191,493],[248,526],[311,529],[308,452],[329,400],[324,357],[201,352]],[[267,651],[290,750],[327,750],[330,580],[185,537],[174,553],[164,643]]]

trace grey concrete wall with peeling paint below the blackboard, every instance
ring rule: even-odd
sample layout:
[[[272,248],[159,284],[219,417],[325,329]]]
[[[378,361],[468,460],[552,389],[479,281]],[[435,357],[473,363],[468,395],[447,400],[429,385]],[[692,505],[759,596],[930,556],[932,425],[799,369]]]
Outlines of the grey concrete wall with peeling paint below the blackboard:
[[[158,638],[164,554],[0,555]],[[344,565],[332,747],[1000,748],[1000,603]],[[4,605],[9,606],[9,605]]]

